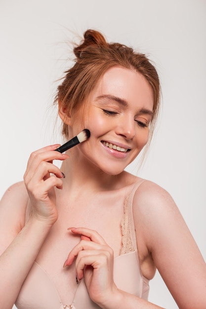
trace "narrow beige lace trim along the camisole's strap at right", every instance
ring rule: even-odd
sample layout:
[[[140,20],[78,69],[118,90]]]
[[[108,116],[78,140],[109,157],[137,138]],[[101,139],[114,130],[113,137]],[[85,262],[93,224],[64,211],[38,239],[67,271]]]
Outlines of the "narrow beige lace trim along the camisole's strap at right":
[[[122,248],[120,250],[120,255],[133,252],[134,247],[131,241],[131,234],[129,228],[129,218],[128,218],[128,195],[124,200],[124,215],[121,220],[121,229],[122,229]]]

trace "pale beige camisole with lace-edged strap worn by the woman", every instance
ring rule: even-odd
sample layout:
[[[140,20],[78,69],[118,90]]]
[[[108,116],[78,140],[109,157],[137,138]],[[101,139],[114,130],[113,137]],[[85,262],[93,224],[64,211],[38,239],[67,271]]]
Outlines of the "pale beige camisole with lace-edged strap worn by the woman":
[[[122,219],[123,246],[114,260],[114,281],[117,287],[137,297],[148,299],[149,280],[142,275],[132,216],[133,196],[144,180],[139,179],[124,199]],[[15,306],[18,309],[99,309],[88,295],[84,280],[77,285],[72,304],[63,304],[58,291],[48,274],[38,263],[34,263],[28,273]]]

